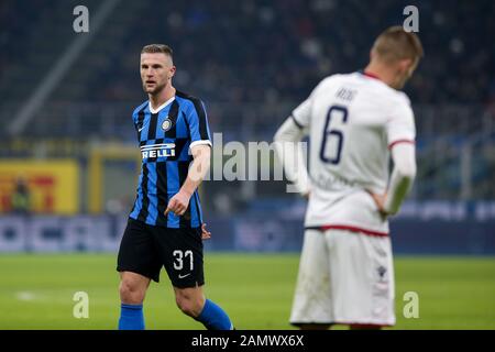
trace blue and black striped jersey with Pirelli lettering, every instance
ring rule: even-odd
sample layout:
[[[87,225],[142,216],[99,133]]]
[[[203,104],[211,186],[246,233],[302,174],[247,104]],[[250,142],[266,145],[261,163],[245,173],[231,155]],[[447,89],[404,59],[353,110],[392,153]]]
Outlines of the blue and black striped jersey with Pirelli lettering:
[[[130,218],[167,228],[200,227],[202,213],[197,190],[184,216],[168,212],[165,217],[164,211],[186,180],[193,162],[190,146],[211,145],[204,103],[176,91],[175,97],[156,111],[145,101],[134,110],[132,119],[138,131],[142,167]]]

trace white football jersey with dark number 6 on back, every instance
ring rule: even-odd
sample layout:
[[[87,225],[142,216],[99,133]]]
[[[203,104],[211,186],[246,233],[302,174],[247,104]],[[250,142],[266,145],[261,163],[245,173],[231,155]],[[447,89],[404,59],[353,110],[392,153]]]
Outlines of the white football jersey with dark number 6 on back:
[[[366,190],[385,193],[389,148],[415,141],[407,96],[362,73],[333,75],[292,116],[310,139],[306,227],[388,233]]]

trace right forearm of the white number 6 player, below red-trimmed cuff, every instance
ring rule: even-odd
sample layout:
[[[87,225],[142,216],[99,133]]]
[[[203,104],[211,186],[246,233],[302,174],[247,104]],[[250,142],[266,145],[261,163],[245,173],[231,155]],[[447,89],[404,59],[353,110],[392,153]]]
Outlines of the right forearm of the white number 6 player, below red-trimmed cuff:
[[[398,143],[392,147],[394,169],[383,202],[383,212],[395,215],[406,199],[416,177],[416,150],[414,143]]]

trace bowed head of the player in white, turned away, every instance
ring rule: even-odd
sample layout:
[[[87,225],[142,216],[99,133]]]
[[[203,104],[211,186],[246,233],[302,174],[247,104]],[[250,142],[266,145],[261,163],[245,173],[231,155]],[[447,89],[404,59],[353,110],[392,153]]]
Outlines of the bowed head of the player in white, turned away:
[[[377,70],[388,86],[402,89],[424,56],[419,37],[399,25],[378,35],[371,50],[369,69]]]

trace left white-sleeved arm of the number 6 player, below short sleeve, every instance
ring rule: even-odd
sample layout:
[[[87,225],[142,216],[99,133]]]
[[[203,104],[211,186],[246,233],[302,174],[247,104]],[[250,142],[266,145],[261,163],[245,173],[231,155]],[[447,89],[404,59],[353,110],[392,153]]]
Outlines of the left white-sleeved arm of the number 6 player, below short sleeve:
[[[290,116],[280,125],[274,136],[275,151],[284,166],[287,178],[294,183],[296,189],[304,197],[311,190],[308,170],[299,143],[306,135],[306,130]]]

